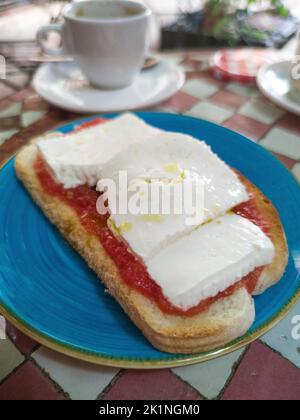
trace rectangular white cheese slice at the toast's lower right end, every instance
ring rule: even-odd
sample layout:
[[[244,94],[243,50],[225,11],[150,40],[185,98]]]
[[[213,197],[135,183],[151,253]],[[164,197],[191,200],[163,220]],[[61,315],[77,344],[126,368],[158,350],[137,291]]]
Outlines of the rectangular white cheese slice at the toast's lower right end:
[[[170,245],[146,266],[165,297],[186,310],[215,297],[273,258],[273,243],[260,228],[227,214]]]

